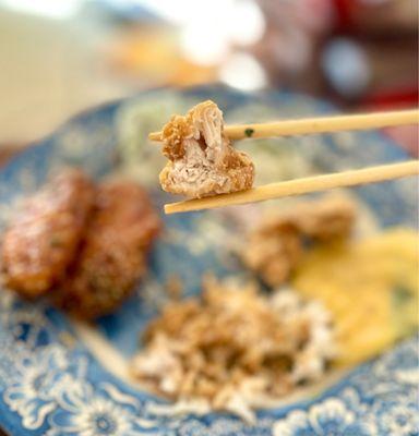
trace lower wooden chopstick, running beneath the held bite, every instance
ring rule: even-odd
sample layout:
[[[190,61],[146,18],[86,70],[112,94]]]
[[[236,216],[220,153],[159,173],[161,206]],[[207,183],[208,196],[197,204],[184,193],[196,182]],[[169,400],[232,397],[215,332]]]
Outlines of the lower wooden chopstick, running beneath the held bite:
[[[399,164],[363,168],[360,170],[349,170],[332,174],[314,175],[286,182],[271,183],[264,186],[258,186],[248,191],[231,194],[214,195],[212,197],[171,203],[165,205],[165,213],[176,214],[263,202],[265,199],[308,194],[310,192],[326,191],[334,187],[382,182],[384,180],[399,179],[415,174],[419,174],[419,160],[409,160]]]

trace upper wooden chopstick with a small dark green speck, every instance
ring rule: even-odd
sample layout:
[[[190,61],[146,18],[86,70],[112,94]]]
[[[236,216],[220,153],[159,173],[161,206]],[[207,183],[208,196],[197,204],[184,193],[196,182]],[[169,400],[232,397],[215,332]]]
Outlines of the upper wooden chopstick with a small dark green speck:
[[[230,140],[247,137],[292,136],[312,133],[328,133],[349,130],[379,129],[393,125],[415,124],[419,121],[419,109],[392,112],[344,114],[301,120],[284,120],[261,124],[226,125]],[[161,141],[161,132],[152,132],[152,141]]]

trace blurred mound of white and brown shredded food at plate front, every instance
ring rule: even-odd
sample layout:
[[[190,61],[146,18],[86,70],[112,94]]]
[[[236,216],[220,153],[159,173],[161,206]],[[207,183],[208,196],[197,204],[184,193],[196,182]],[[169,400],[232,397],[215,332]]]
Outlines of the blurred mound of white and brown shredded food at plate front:
[[[251,421],[252,408],[316,380],[335,346],[328,314],[290,290],[204,281],[202,300],[167,305],[132,361],[136,378],[178,403]]]

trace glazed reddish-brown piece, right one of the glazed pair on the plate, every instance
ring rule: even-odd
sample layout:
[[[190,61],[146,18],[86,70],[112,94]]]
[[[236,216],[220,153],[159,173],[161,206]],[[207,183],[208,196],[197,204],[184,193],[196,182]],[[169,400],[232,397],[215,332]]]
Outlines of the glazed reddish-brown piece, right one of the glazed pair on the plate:
[[[99,185],[81,253],[58,292],[58,305],[86,319],[111,313],[144,274],[145,256],[159,228],[139,185]]]

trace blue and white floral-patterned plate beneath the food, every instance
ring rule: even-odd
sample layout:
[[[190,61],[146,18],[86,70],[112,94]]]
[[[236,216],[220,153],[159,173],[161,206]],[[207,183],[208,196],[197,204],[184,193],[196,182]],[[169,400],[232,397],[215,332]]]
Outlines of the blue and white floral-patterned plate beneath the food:
[[[173,112],[212,98],[227,121],[258,121],[330,112],[311,98],[279,93],[248,96],[222,87],[154,90],[82,113],[15,157],[0,171],[0,227],[19,199],[60,166],[83,167],[100,178],[116,166],[149,186],[156,206],[163,162],[146,142]],[[307,173],[360,168],[407,159],[375,132],[339,133],[248,143],[259,183]],[[352,192],[380,226],[417,227],[416,179],[363,186]],[[173,416],[165,401],[127,382],[125,362],[139,334],[165,298],[172,272],[185,294],[199,292],[201,276],[240,274],[223,250],[229,231],[223,213],[165,218],[166,233],[151,255],[151,271],[135,294],[97,328],[76,325],[46,302],[29,304],[0,290],[0,427],[11,435],[416,435],[418,347],[406,339],[304,398],[260,410],[254,425],[228,413]]]

